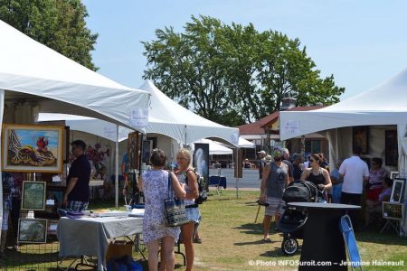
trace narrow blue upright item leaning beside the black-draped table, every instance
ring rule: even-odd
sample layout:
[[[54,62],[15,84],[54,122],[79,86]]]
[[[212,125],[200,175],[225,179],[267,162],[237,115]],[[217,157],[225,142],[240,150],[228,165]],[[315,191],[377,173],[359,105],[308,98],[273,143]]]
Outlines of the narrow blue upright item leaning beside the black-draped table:
[[[339,229],[344,236],[347,257],[351,262],[350,266],[352,266],[352,270],[355,270],[355,267],[359,267],[361,270],[364,270],[364,267],[362,266],[362,259],[359,254],[359,249],[356,245],[356,238],[354,229],[352,228],[352,222],[348,215],[342,216],[339,223]]]

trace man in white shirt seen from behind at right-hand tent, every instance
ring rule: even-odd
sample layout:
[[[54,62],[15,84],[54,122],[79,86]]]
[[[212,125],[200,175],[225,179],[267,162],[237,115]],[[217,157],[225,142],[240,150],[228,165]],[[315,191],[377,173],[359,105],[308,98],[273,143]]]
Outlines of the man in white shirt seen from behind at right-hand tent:
[[[369,168],[367,164],[360,158],[362,148],[355,146],[353,155],[345,159],[339,168],[339,173],[344,178],[341,192],[341,203],[361,205],[362,192],[364,190],[364,182],[369,180]],[[354,228],[357,229],[357,211],[350,211]]]

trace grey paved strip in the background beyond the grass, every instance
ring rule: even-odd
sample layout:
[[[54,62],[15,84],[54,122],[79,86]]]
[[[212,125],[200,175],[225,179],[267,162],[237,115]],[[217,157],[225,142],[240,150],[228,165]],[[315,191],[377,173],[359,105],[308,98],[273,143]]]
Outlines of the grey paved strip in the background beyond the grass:
[[[210,169],[209,175],[217,175],[217,169]],[[226,177],[227,190],[236,189],[236,178],[233,177],[233,169],[222,168],[222,176]],[[260,180],[258,169],[243,169],[243,178],[239,179],[239,190],[260,191]]]

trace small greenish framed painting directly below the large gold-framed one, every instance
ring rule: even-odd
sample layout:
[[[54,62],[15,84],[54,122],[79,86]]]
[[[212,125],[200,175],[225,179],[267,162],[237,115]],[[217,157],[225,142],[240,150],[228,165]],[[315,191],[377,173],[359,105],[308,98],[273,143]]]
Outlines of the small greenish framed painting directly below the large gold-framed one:
[[[46,182],[23,181],[22,210],[45,210]]]

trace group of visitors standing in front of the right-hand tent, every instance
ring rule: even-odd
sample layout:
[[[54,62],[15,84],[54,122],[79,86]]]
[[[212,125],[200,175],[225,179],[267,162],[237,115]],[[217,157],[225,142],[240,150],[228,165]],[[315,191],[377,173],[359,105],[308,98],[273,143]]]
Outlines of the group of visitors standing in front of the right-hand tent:
[[[383,168],[382,158],[372,158],[369,169],[361,153],[361,148],[355,146],[349,158],[337,158],[331,169],[322,153],[308,154],[303,161],[300,154],[293,154],[290,159],[287,148],[275,147],[271,155],[265,151],[258,152],[261,165],[259,201],[268,205],[263,220],[263,241],[270,241],[270,220],[274,217],[278,225],[285,205],[281,197],[289,182],[293,181],[313,182],[319,191],[319,198],[322,198],[320,202],[365,205],[364,229],[372,223],[372,213],[382,215],[382,201],[389,201],[393,180]],[[271,159],[269,163],[268,157]],[[364,193],[366,200],[362,202]],[[349,215],[355,229],[361,229],[359,219],[363,216],[360,211],[350,211]]]

